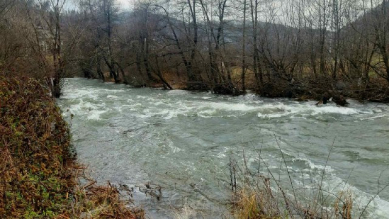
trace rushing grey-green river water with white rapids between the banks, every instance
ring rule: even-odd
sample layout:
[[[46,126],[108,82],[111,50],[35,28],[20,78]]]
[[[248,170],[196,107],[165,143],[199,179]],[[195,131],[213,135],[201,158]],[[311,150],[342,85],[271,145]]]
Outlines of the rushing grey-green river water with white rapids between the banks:
[[[357,211],[389,183],[384,104],[318,107],[313,101],[134,89],[86,79],[66,79],[63,93],[58,103],[68,121],[74,114],[78,159],[98,182],[163,187],[160,200],[135,190],[151,218],[173,218],[182,209],[188,218],[220,218],[230,198],[230,158],[242,164],[245,156],[248,167],[257,168],[259,150],[268,165],[264,174],[270,170],[287,182],[281,148],[295,188],[304,179],[320,181],[325,169],[322,187],[350,189]],[[371,202],[366,218],[389,219],[388,190]]]

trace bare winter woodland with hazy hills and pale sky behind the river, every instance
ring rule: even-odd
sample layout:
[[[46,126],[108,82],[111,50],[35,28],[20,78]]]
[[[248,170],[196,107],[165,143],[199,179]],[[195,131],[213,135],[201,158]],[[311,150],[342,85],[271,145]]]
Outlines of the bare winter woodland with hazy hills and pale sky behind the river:
[[[0,0],[1,74],[389,101],[388,0],[130,3]]]

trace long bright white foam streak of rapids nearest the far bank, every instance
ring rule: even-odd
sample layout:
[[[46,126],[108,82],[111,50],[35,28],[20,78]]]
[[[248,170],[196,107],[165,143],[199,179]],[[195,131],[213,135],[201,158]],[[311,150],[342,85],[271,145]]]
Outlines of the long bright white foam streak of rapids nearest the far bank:
[[[140,97],[146,99],[147,97]],[[199,102],[199,101],[178,101],[174,104],[164,103],[162,101],[153,101],[148,98],[155,106],[166,105],[166,109],[153,109],[148,114],[141,117],[163,116],[164,119],[172,119],[178,115],[193,115],[194,113],[200,117],[223,117],[223,116],[239,116],[248,112],[257,112],[257,116],[261,118],[277,118],[283,116],[304,117],[306,115],[319,114],[341,114],[341,115],[371,115],[371,110],[357,110],[354,108],[337,107],[335,105],[327,105],[317,107],[313,104],[246,104],[246,103],[223,103],[223,102]],[[298,116],[296,116],[298,115]],[[335,119],[335,118],[334,118]]]

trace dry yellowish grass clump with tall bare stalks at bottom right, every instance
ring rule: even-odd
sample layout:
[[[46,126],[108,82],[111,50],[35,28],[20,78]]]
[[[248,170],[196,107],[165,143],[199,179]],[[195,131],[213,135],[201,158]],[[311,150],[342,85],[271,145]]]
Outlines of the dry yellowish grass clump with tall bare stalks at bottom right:
[[[257,151],[259,161],[267,169],[269,177],[265,177],[259,167],[250,170],[245,157],[242,165],[237,165],[236,161],[230,160],[230,184],[235,190],[231,201],[231,213],[235,219],[353,219],[357,215],[352,211],[354,196],[350,189],[343,187],[338,194],[334,194],[334,190],[323,189],[325,168],[320,173],[321,180],[317,181],[310,175],[311,183],[303,183],[302,190],[296,188],[281,147],[279,148],[282,154],[281,164],[285,165],[288,182],[275,178],[262,159],[261,151]],[[331,151],[328,158],[330,154]],[[236,184],[235,179],[239,179],[238,182],[242,183]],[[286,185],[284,183],[289,184],[290,189],[284,190],[283,185]],[[303,191],[303,194],[299,194],[299,191]],[[360,215],[362,214],[363,212]]]

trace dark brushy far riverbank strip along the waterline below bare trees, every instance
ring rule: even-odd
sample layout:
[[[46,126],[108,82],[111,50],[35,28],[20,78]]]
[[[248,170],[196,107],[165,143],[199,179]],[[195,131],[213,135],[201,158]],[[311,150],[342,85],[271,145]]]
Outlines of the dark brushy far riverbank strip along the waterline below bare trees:
[[[93,78],[93,77],[92,77]],[[91,79],[91,78],[88,78]],[[142,84],[128,83],[128,80],[124,80],[123,76],[119,76],[119,80],[115,80],[109,77],[106,73],[104,82],[111,82],[116,84],[130,85],[132,88],[156,88],[164,90],[183,90],[183,91],[197,91],[197,92],[212,92],[214,94],[222,95],[245,95],[247,93],[255,93],[261,97],[267,98],[294,98],[299,101],[316,100],[321,104],[324,101],[332,100],[339,106],[347,106],[347,99],[354,99],[361,103],[377,102],[377,103],[389,103],[389,89],[385,80],[380,78],[372,78],[368,87],[357,86],[347,82],[346,80],[332,80],[332,78],[321,78],[318,81],[311,81],[309,78],[305,78],[301,81],[295,80],[275,80],[267,81],[264,86],[255,86],[252,83],[247,83],[245,90],[241,90],[239,86],[239,78],[236,78],[237,86],[231,84],[210,84],[206,82],[198,82],[195,84],[188,84],[185,78],[177,79],[174,75],[167,73],[165,81],[169,84],[166,87],[163,83],[156,83],[146,81]],[[248,81],[250,82],[250,80]]]

